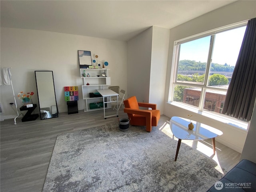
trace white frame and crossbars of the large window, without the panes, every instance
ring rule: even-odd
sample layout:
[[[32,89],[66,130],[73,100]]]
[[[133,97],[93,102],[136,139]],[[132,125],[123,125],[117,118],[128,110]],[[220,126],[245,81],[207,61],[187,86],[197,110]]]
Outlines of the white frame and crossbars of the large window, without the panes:
[[[206,100],[206,90],[210,89],[210,90],[219,90],[219,91],[227,91],[227,88],[218,88],[218,87],[212,87],[212,86],[208,86],[208,79],[209,79],[209,72],[210,72],[210,66],[211,66],[211,58],[212,58],[212,53],[213,53],[213,47],[214,47],[214,38],[216,36],[216,34],[220,33],[220,32],[225,32],[228,30],[233,30],[236,28],[240,28],[243,26],[247,25],[247,20],[246,21],[242,21],[242,22],[238,22],[236,24],[231,24],[228,26],[224,26],[224,27],[220,27],[220,28],[216,28],[207,32],[203,32],[200,34],[196,34],[194,36],[190,36],[187,38],[183,38],[181,40],[177,40],[174,41],[174,50],[173,50],[173,61],[172,64],[174,65],[174,67],[172,67],[172,72],[171,72],[171,81],[170,81],[170,91],[169,91],[169,102],[175,102],[174,101],[174,87],[176,85],[180,85],[180,86],[195,86],[198,88],[201,88],[201,95],[200,95],[200,102],[199,102],[199,106],[191,106],[189,104],[183,103],[185,105],[188,105],[189,107],[195,108],[196,110],[200,111],[200,112],[207,112],[206,110],[204,110],[204,103]],[[204,38],[206,36],[210,36],[210,48],[209,48],[209,52],[208,52],[208,58],[207,58],[207,63],[206,63],[206,71],[205,71],[205,78],[204,78],[204,82],[202,84],[193,84],[193,83],[186,83],[186,82],[177,82],[177,76],[178,76],[178,64],[179,64],[179,58],[180,58],[180,45],[186,42],[190,42],[193,40],[197,40],[199,38]],[[180,103],[180,102],[176,102],[176,103]],[[211,113],[212,114],[212,113]],[[213,114],[214,115],[214,114]],[[223,114],[216,114],[216,115],[222,115]],[[228,116],[226,116],[228,117]]]

